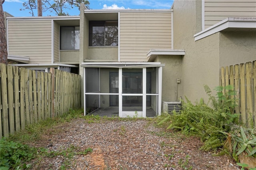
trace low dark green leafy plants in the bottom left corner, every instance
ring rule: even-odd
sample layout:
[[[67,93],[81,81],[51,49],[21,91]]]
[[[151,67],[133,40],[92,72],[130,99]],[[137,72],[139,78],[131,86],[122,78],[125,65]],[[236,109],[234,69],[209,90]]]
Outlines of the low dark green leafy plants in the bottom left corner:
[[[28,145],[8,141],[5,138],[0,140],[0,169],[26,169],[30,165],[25,160],[33,159],[36,150]]]

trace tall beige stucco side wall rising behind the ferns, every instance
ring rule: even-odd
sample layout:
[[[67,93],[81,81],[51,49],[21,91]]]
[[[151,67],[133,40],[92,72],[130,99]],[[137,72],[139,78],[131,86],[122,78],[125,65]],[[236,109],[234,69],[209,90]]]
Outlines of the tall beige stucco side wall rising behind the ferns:
[[[193,36],[199,30],[196,24],[199,4],[195,0],[177,0],[173,10],[174,49],[184,49],[186,53],[182,58],[181,96],[192,102],[203,97],[207,102],[203,85],[214,89],[219,81],[219,33],[195,42]]]

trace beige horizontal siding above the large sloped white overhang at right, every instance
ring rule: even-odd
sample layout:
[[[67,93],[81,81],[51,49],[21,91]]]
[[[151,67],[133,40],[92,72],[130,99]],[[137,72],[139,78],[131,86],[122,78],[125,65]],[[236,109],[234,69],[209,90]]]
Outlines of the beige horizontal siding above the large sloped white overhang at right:
[[[205,29],[228,17],[256,17],[256,0],[205,0]]]

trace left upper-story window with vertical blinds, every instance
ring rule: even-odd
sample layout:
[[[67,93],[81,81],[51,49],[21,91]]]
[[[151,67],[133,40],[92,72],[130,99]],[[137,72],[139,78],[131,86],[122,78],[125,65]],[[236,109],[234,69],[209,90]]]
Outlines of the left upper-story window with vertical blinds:
[[[75,50],[80,46],[79,27],[60,27],[60,49]]]

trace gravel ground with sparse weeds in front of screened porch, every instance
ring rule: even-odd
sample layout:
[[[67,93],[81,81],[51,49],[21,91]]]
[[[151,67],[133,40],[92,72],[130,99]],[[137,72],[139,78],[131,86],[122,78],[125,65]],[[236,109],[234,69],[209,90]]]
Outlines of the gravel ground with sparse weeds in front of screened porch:
[[[63,152],[52,158],[34,162],[34,169],[55,170],[238,170],[234,160],[227,156],[212,156],[200,151],[202,143],[195,137],[180,137],[149,121],[97,121],[84,119],[56,127],[58,134],[44,136],[34,146]],[[68,155],[73,148],[88,154]],[[69,156],[69,157],[68,157]]]

